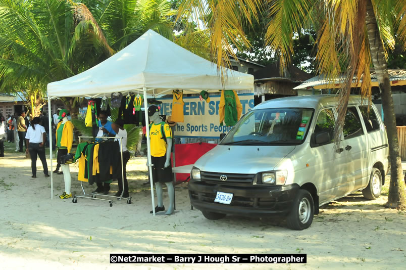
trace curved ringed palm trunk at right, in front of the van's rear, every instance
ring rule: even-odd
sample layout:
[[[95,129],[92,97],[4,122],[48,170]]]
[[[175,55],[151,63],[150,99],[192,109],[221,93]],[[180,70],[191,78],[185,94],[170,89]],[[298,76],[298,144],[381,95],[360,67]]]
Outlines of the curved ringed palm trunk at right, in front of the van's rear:
[[[405,186],[402,180],[402,165],[399,154],[399,143],[397,139],[392,91],[390,87],[387,62],[383,51],[382,39],[379,35],[379,29],[377,27],[377,21],[371,0],[367,0],[367,14],[365,20],[368,30],[371,59],[372,63],[374,64],[379,89],[381,91],[382,108],[385,116],[384,123],[386,125],[386,132],[388,134],[390,185],[386,207],[405,208]]]

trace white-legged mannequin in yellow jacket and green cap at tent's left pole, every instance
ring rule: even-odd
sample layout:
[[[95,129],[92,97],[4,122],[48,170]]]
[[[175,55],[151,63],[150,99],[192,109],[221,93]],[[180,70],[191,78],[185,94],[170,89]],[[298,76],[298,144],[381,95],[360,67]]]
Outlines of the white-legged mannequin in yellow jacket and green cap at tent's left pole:
[[[59,118],[62,119],[61,122],[58,123],[57,132],[56,132],[56,139],[57,139],[57,146],[58,150],[58,161],[61,162],[61,157],[67,155],[72,149],[72,142],[73,142],[73,124],[71,121],[68,120],[69,112],[68,110],[61,110],[59,113]],[[59,196],[61,199],[68,199],[72,197],[71,194],[71,183],[72,177],[69,170],[69,164],[62,164],[61,162],[61,169],[64,173],[64,182],[65,182],[65,192]]]

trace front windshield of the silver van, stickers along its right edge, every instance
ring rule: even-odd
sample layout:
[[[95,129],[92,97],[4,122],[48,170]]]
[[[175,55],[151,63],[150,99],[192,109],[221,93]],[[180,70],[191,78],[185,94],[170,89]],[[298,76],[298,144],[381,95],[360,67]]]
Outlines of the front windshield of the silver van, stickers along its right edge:
[[[298,145],[306,139],[314,109],[251,110],[230,130],[221,145]]]

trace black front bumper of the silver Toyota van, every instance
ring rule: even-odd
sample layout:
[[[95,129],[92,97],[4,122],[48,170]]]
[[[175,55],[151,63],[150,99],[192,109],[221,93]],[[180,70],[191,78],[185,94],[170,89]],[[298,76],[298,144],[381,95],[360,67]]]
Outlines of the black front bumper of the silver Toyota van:
[[[286,215],[290,212],[296,193],[300,189],[297,184],[233,186],[197,181],[190,181],[188,187],[190,203],[198,210],[245,216]],[[214,202],[218,191],[232,193],[231,203]]]

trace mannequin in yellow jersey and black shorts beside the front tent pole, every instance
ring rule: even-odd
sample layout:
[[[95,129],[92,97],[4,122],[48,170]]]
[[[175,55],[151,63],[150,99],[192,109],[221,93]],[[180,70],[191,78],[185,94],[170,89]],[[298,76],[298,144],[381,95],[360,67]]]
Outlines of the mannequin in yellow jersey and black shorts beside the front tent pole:
[[[153,181],[155,183],[155,190],[157,192],[158,206],[155,207],[155,212],[165,211],[163,204],[163,189],[162,184],[165,183],[168,189],[169,196],[169,208],[165,212],[166,215],[173,214],[174,212],[174,198],[175,190],[172,182],[172,167],[171,167],[171,148],[172,148],[172,133],[168,124],[162,122],[159,116],[159,109],[153,105],[148,108],[149,120],[153,122],[151,124],[150,133],[150,148],[151,148],[151,160],[153,163]],[[161,135],[161,125],[164,125],[164,132],[166,134],[166,149],[158,149],[165,145],[165,141]],[[170,135],[170,136],[168,136]],[[160,141],[161,140],[161,141]],[[159,153],[158,153],[159,152]],[[158,154],[157,154],[158,153]],[[164,161],[165,160],[165,161]],[[164,164],[163,164],[164,163]],[[163,166],[162,166],[163,165]],[[150,211],[153,213],[153,211]]]

